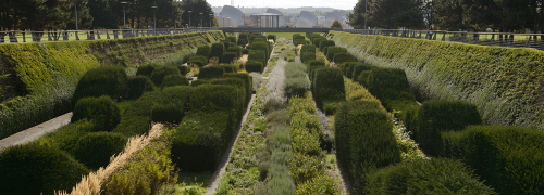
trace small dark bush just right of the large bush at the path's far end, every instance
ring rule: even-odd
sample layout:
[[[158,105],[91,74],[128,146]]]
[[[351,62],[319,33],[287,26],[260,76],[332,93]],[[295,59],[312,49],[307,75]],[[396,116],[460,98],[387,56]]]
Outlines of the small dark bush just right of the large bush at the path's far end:
[[[141,75],[131,77],[126,82],[123,100],[136,100],[139,96],[141,96],[141,94],[144,94],[145,92],[153,90],[154,90],[154,84],[151,81],[151,79],[149,79],[149,77]]]

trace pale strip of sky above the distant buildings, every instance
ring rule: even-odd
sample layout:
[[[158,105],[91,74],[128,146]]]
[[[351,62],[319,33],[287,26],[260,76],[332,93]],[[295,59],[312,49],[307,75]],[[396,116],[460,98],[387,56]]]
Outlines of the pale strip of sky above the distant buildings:
[[[231,0],[207,0],[212,6],[231,5]],[[234,0],[234,6],[249,8],[334,8],[353,10],[357,0]]]

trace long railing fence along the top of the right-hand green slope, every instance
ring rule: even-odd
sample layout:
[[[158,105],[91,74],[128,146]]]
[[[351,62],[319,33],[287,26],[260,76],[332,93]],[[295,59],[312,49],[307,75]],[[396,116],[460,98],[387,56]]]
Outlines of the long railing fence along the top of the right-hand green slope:
[[[497,46],[511,48],[534,48],[537,50],[544,50],[544,42],[542,42],[544,40],[544,34],[470,32],[410,29],[344,29],[343,31],[363,35],[381,35],[412,39],[463,42],[490,47]]]

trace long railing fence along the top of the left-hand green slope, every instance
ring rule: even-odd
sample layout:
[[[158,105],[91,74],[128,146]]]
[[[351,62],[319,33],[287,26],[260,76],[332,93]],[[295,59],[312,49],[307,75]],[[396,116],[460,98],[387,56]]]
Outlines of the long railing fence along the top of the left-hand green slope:
[[[161,28],[161,29],[97,29],[97,30],[63,30],[63,31],[0,31],[0,43],[73,41],[95,39],[122,39],[133,37],[149,37],[178,35],[196,31],[217,30],[218,28]],[[8,36],[8,40],[5,40]],[[44,40],[46,39],[46,40]]]

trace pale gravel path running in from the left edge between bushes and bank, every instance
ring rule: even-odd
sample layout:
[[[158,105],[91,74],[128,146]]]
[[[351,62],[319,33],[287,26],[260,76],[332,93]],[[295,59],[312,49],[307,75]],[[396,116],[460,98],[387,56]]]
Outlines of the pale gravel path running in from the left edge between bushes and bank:
[[[0,153],[9,146],[32,142],[33,140],[38,139],[48,132],[59,129],[62,126],[70,123],[71,118],[72,112],[2,139],[0,140]]]

